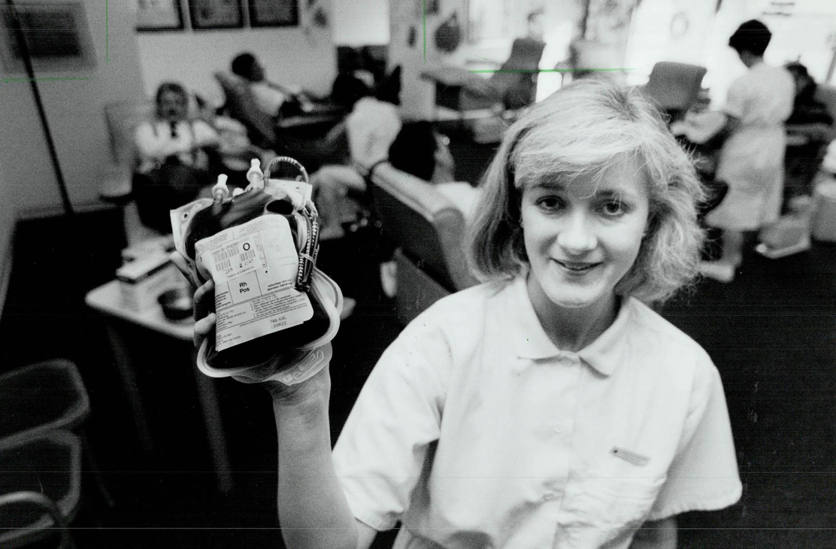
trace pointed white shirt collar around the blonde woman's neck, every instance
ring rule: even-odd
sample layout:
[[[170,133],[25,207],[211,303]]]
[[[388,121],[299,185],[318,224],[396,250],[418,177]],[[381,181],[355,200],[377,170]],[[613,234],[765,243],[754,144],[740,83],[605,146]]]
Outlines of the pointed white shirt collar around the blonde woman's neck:
[[[516,277],[508,288],[507,318],[512,320],[508,326],[511,331],[514,351],[520,358],[533,360],[557,356],[576,356],[597,370],[599,374],[609,376],[616,364],[624,357],[623,349],[630,329],[630,317],[635,308],[635,298],[625,298],[621,302],[618,316],[604,333],[578,353],[561,351],[548,338],[543,325],[534,312],[528,297],[525,277]]]

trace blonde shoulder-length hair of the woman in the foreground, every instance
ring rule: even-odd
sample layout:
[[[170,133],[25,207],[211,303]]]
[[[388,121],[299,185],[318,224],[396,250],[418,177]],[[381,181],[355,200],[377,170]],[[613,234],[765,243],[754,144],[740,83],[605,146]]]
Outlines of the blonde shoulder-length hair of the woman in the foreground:
[[[692,282],[704,239],[696,205],[705,197],[693,163],[639,91],[606,79],[560,89],[507,130],[482,179],[467,236],[477,277],[513,277],[528,264],[520,226],[527,182],[599,176],[634,159],[648,183],[650,222],[639,256],[615,292],[662,302]]]

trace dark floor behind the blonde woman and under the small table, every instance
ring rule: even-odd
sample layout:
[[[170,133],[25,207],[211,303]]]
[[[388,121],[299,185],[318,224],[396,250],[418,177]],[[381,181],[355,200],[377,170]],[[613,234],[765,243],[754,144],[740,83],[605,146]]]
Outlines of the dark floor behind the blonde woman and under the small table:
[[[462,179],[489,156],[454,142]],[[275,433],[262,389],[217,381],[234,490],[221,495],[203,435],[190,349],[151,333],[128,342],[151,415],[145,454],[130,420],[102,318],[84,293],[119,262],[118,211],[19,224],[0,370],[64,356],[79,364],[93,413],[89,435],[116,506],[85,477],[74,522],[79,547],[281,546],[275,511]],[[381,297],[375,230],[326,243],[322,267],[359,301],[334,340],[334,435],[383,348],[399,330]],[[714,358],[726,387],[743,498],[681,519],[680,546],[836,547],[836,247],[770,261],[746,257],[731,284],[704,282],[663,313]],[[383,536],[380,547],[392,536]]]

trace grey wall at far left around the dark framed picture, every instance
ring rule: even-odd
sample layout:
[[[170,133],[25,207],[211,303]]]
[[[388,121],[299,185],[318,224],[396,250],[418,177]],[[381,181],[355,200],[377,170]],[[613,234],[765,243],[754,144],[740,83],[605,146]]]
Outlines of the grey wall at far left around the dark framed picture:
[[[69,198],[76,209],[100,205],[99,182],[111,165],[104,104],[142,94],[129,3],[83,0],[95,66],[36,71]],[[107,17],[106,17],[107,16]],[[108,60],[110,58],[110,61]],[[0,66],[0,78],[21,78]],[[84,80],[62,80],[89,78]],[[22,216],[63,211],[28,83],[0,84],[0,165],[14,208]],[[7,202],[8,203],[8,202]]]

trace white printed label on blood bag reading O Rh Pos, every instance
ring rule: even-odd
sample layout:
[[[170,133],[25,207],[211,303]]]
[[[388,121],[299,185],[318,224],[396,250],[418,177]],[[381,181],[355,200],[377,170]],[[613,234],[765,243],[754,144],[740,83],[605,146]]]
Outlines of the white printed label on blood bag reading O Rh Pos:
[[[222,351],[314,316],[296,289],[298,252],[284,216],[261,216],[195,243],[215,281],[215,348]]]

